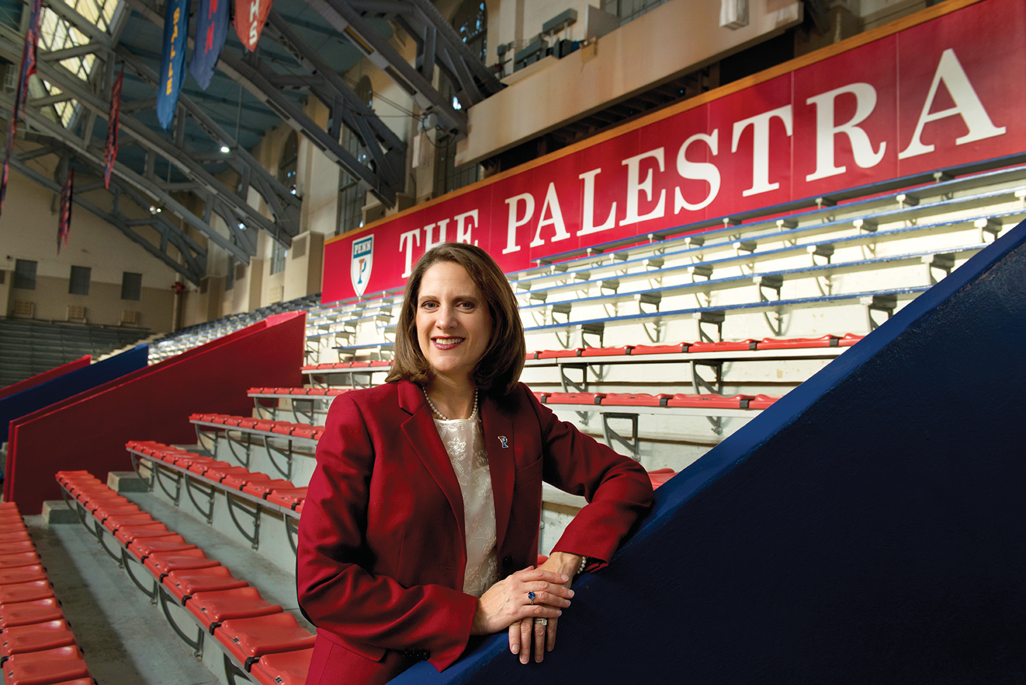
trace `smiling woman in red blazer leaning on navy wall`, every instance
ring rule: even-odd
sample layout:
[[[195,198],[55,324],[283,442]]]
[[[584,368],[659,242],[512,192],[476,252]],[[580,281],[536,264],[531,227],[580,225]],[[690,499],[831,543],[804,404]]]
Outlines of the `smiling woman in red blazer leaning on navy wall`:
[[[645,472],[558,420],[518,382],[516,299],[484,250],[445,243],[413,269],[387,382],[338,397],[300,525],[297,583],[317,626],[308,684],[441,671],[471,635],[509,632],[541,661],[569,583],[603,566],[652,502]],[[590,502],[548,561],[542,481]]]

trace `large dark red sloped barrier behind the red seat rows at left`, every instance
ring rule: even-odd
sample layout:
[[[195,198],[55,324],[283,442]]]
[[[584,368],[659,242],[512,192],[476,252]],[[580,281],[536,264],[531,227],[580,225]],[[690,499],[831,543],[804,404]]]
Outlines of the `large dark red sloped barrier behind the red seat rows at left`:
[[[305,327],[304,312],[268,317],[11,421],[4,498],[39,513],[57,471],[127,471],[128,440],[193,444],[190,413],[245,414],[250,387],[302,385]]]

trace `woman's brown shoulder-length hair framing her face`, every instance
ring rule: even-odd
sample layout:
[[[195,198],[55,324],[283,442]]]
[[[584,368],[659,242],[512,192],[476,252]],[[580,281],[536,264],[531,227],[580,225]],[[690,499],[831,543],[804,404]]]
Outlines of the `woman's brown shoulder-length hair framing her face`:
[[[431,367],[421,352],[417,337],[417,298],[424,272],[439,261],[451,261],[466,269],[488,304],[491,337],[474,369],[474,384],[492,397],[508,395],[520,380],[526,353],[520,310],[513,288],[491,255],[476,245],[466,243],[442,243],[433,247],[413,267],[406,281],[395,328],[392,370],[385,381],[405,379],[423,384],[431,379]]]

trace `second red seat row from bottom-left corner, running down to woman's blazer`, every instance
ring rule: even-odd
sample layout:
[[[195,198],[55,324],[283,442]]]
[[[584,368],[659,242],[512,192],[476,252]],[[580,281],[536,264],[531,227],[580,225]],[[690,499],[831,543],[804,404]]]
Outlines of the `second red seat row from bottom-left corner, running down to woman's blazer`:
[[[88,472],[56,479],[256,682],[306,681],[314,636],[292,614]]]

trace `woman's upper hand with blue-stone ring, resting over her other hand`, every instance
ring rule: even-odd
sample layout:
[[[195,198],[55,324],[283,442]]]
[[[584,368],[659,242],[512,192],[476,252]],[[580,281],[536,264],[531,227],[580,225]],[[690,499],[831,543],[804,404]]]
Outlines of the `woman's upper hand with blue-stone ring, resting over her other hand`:
[[[528,566],[488,588],[477,600],[472,635],[498,633],[521,618],[556,618],[568,607],[573,592],[561,583],[569,578]],[[527,593],[535,593],[535,599]],[[516,653],[516,652],[514,652]]]

